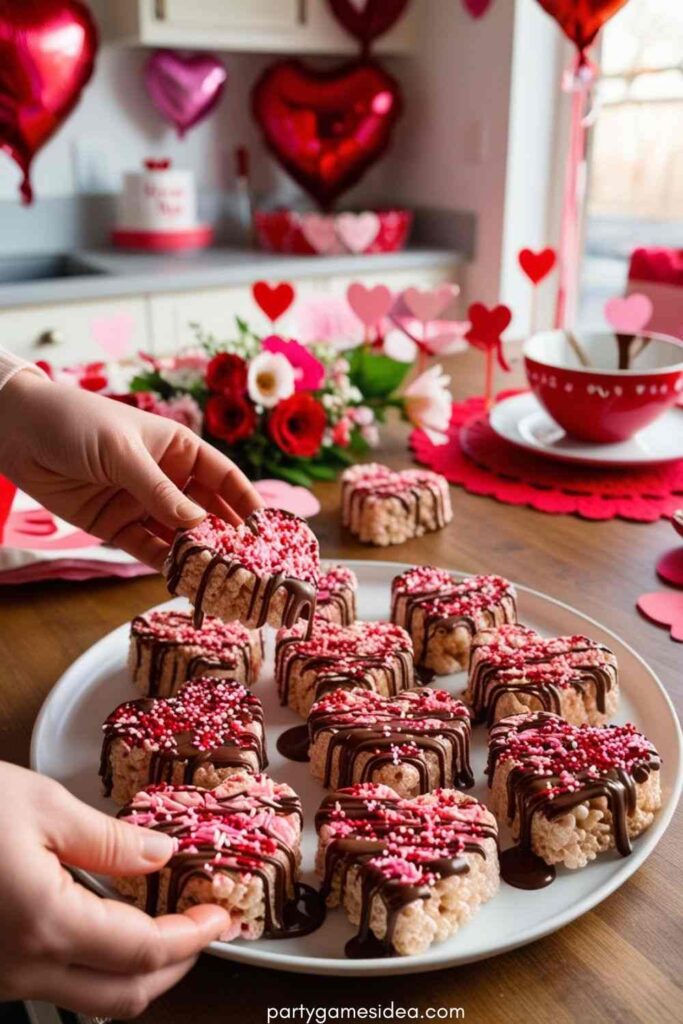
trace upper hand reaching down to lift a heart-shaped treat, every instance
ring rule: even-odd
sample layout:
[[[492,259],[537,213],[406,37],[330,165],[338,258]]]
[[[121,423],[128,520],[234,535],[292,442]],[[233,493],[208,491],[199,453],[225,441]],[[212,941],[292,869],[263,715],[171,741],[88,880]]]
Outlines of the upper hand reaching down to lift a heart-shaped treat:
[[[206,511],[237,524],[263,504],[244,473],[186,427],[27,372],[0,391],[0,472],[154,568],[172,530]]]

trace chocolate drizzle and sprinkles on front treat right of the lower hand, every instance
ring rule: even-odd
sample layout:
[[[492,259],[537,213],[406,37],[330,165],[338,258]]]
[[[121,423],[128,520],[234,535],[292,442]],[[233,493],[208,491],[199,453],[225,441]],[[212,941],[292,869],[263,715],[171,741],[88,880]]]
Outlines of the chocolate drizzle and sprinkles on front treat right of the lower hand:
[[[367,796],[361,796],[365,791]],[[380,795],[380,791],[381,794]],[[458,805],[447,802],[447,813],[439,814],[438,805],[425,807],[401,800],[385,786],[353,786],[330,794],[315,815],[315,828],[332,827],[342,820],[344,827],[325,849],[325,874],[322,893],[327,898],[339,885],[343,898],[350,872],[360,877],[360,922],[357,934],[346,944],[349,957],[377,957],[395,954],[394,932],[401,910],[415,900],[428,900],[439,879],[464,874],[470,870],[468,854],[486,857],[484,841],[496,839],[492,821],[474,821],[458,813]],[[446,794],[440,798],[445,800]],[[463,797],[461,808],[477,801]],[[382,862],[385,853],[396,847],[396,856],[417,868],[421,881],[408,882],[394,877]],[[371,926],[375,899],[386,911],[386,932],[380,938]]]

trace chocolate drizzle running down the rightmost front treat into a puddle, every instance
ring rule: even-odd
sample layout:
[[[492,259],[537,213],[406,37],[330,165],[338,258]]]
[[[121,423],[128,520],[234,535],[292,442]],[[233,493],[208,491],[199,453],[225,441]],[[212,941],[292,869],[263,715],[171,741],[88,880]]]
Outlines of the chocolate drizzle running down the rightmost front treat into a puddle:
[[[501,873],[509,885],[520,889],[543,888],[555,878],[554,867],[546,864],[532,849],[531,827],[537,814],[543,814],[548,820],[554,821],[572,811],[579,804],[604,798],[611,816],[614,846],[623,857],[628,856],[632,850],[628,819],[636,812],[636,784],[644,782],[649,773],[657,771],[660,765],[654,748],[647,744],[642,760],[635,760],[629,767],[613,766],[598,770],[592,765],[584,770],[569,769],[575,782],[567,787],[563,775],[544,770],[540,766],[540,757],[536,753],[546,744],[549,752],[555,750],[555,723],[561,723],[560,731],[579,731],[578,727],[569,726],[555,715],[536,712],[503,719],[494,726],[490,733],[486,769],[489,786],[493,785],[499,763],[510,756],[510,735],[536,730],[535,755],[528,762],[521,758],[518,762],[513,762],[507,778],[507,817],[509,821],[516,822],[518,839],[516,846],[502,853]],[[540,731],[544,727],[545,735]],[[618,727],[598,726],[591,731],[596,733],[601,729],[607,731],[613,728]]]

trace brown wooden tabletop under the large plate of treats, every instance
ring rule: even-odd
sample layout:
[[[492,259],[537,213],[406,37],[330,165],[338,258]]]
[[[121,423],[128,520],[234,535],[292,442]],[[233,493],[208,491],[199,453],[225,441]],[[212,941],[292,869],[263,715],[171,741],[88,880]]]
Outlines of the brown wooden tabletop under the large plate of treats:
[[[475,354],[459,356],[452,370],[457,395],[479,386]],[[513,383],[519,370],[515,373]],[[386,434],[377,458],[396,467],[407,465],[404,429]],[[675,543],[668,523],[585,522],[454,489],[455,519],[446,529],[387,551],[364,547],[342,532],[336,484],[322,484],[316,494],[323,511],[313,526],[326,556],[434,562],[471,572],[499,572],[546,591],[622,634],[654,667],[681,713],[681,647],[635,609],[638,595],[655,586],[658,554]],[[28,764],[36,715],[74,658],[164,597],[158,578],[0,590],[0,734],[5,760]],[[141,1020],[264,1024],[267,1008],[387,1007],[395,1000],[421,1013],[462,1007],[464,1019],[477,1024],[680,1021],[682,818],[679,813],[647,863],[604,903],[555,935],[496,959],[403,978],[342,980],[265,972],[204,956]]]

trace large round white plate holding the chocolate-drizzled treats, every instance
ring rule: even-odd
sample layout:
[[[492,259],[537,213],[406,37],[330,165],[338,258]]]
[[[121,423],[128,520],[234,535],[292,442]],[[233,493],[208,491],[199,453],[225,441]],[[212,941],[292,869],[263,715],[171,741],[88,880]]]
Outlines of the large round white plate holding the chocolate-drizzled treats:
[[[407,566],[392,562],[348,562],[358,575],[359,617],[385,618],[389,612],[392,578]],[[168,602],[180,606],[179,601]],[[622,707],[620,722],[634,721],[659,751],[664,766],[664,806],[654,824],[634,842],[630,857],[612,852],[582,871],[560,869],[548,889],[522,892],[503,883],[500,893],[481,908],[462,931],[446,942],[436,943],[419,956],[350,961],[344,944],[353,934],[342,910],[334,910],[317,932],[305,938],[214,942],[209,951],[227,959],[281,971],[327,975],[390,975],[431,971],[466,964],[502,953],[556,931],[599,903],[642,864],[661,838],[674,812],[681,788],[681,732],[676,714],[656,676],[623,640],[568,605],[536,591],[519,588],[522,622],[547,634],[587,633],[607,643],[621,666]],[[37,771],[59,779],[81,800],[113,813],[114,804],[99,793],[97,766],[100,723],[122,700],[136,694],[126,673],[128,627],[110,633],[81,655],[56,684],[40,713],[33,735],[32,765]],[[462,689],[464,675],[443,677],[438,685],[454,692]],[[265,710],[267,743],[274,778],[289,782],[301,796],[308,822],[303,843],[304,879],[311,873],[315,849],[311,822],[324,796],[306,764],[285,760],[275,750],[280,732],[299,723],[297,716],[281,708],[272,683],[270,662],[255,687]],[[486,732],[474,730],[472,765],[479,780],[471,792],[485,800],[483,781]],[[507,843],[507,837],[506,837]],[[97,892],[112,894],[104,880],[82,874]]]

